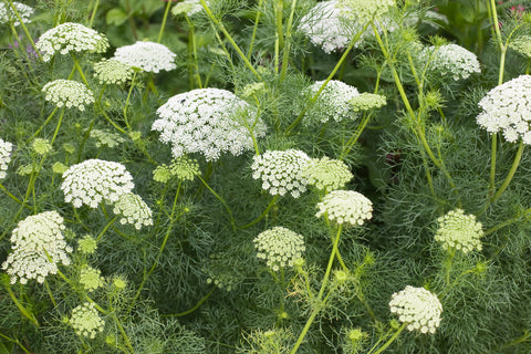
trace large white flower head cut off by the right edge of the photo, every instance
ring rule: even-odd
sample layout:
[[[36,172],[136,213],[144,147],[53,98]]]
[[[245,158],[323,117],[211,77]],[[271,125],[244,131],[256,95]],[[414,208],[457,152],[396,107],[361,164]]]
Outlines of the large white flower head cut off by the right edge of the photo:
[[[489,133],[503,132],[510,143],[519,137],[531,145],[531,75],[520,75],[490,90],[478,104],[478,124]]]

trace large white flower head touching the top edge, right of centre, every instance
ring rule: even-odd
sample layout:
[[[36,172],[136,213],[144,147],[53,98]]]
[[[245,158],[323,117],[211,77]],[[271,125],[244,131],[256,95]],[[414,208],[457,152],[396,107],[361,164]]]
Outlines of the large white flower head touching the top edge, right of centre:
[[[336,0],[317,2],[301,19],[299,30],[310,38],[315,46],[332,53],[348,46],[350,31],[345,28],[345,9],[337,7]]]

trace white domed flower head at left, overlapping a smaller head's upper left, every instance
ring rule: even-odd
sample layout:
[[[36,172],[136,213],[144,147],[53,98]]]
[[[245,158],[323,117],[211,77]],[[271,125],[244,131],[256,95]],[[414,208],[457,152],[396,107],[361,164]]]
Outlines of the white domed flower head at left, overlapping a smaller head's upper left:
[[[133,187],[133,177],[124,165],[102,159],[70,166],[61,185],[64,201],[72,202],[74,208],[83,205],[97,208],[102,201],[114,204]]]

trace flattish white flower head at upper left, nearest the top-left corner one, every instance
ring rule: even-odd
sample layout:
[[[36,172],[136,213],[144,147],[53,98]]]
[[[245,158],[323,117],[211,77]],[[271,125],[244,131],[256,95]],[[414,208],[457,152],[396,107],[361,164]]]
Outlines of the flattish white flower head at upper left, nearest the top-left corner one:
[[[43,53],[42,60],[48,62],[56,53],[103,53],[108,48],[108,41],[105,35],[83,24],[65,22],[44,32],[35,46]]]

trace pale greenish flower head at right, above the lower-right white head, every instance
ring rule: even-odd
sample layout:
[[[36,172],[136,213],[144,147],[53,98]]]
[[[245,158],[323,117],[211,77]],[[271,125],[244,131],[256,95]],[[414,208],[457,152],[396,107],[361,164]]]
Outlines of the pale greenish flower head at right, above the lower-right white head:
[[[464,253],[481,251],[479,239],[483,236],[483,230],[481,222],[476,221],[476,216],[465,215],[462,209],[456,209],[448,211],[437,221],[439,228],[435,240],[441,242],[445,250],[460,250]]]

